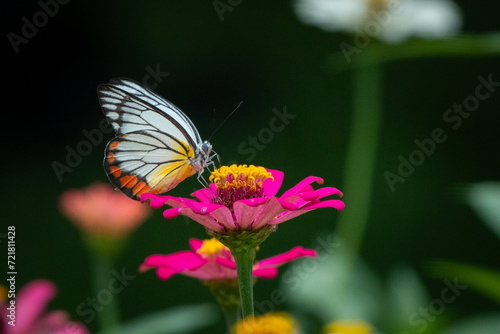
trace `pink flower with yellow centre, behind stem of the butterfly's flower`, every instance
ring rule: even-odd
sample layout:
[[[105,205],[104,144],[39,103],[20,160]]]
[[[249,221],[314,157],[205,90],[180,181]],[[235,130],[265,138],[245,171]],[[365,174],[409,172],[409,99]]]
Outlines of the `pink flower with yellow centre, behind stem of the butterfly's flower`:
[[[229,249],[215,238],[209,240],[190,239],[192,250],[178,253],[151,255],[139,267],[140,272],[156,268],[156,274],[167,280],[175,274],[198,278],[202,281],[236,279],[236,263]],[[278,275],[278,267],[300,257],[315,257],[312,249],[295,247],[286,253],[279,254],[253,266],[253,275],[260,278],[274,278]]]

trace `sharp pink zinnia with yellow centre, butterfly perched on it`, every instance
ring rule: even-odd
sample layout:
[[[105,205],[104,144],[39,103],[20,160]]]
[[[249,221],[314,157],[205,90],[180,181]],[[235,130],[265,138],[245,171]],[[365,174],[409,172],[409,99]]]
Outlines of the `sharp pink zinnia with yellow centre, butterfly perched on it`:
[[[222,166],[210,176],[210,190],[195,191],[197,200],[145,193],[141,201],[151,200],[152,208],[171,206],[163,212],[167,219],[187,216],[215,234],[238,234],[243,231],[275,229],[278,224],[319,208],[344,209],[338,199],[321,201],[330,195],[342,196],[336,188],[314,190],[312,183],[323,184],[323,179],[306,177],[295,187],[276,196],[283,172],[253,165]]]

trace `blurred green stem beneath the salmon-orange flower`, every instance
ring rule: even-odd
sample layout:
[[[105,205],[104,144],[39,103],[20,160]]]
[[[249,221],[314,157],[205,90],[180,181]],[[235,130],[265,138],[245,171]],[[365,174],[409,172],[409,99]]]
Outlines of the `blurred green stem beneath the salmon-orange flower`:
[[[111,270],[113,269],[113,261],[109,257],[94,255],[92,258],[92,281],[94,288],[94,296],[99,300],[99,296],[102,294],[102,290],[108,290],[110,280],[113,278],[111,276]],[[107,302],[107,301],[106,301]],[[98,307],[95,308],[98,312],[97,319],[99,322],[99,329],[105,331],[111,329],[119,324],[119,308],[117,302],[117,296],[112,295],[111,300],[107,304],[99,303]]]

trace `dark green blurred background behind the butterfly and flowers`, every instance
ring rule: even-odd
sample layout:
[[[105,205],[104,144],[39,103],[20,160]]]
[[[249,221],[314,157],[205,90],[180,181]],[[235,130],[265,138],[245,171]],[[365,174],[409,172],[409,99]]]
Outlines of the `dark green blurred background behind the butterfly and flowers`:
[[[459,1],[466,33],[499,28],[493,1]],[[36,1],[1,4],[4,36],[20,33],[21,18],[40,10]],[[69,188],[107,182],[101,162],[106,135],[80,165],[58,181],[52,163],[64,164],[66,146],[85,140],[83,130],[103,119],[96,88],[110,78],[142,81],[146,68],[169,75],[155,89],[183,111],[208,138],[240,101],[239,110],[211,138],[222,162],[247,163],[238,145],[255,136],[286,106],[296,118],[258,152],[253,164],[285,172],[284,189],[309,175],[342,189],[349,137],[351,72],[332,74],[326,58],[352,37],[303,25],[289,1],[243,1],[221,22],[211,1],[70,1],[18,54],[3,40],[2,229],[16,226],[18,286],[35,278],[52,280],[59,295],[51,308],[68,310],[93,296],[89,258],[78,231],[58,211]],[[498,180],[500,92],[456,131],[442,120],[453,103],[474,93],[479,75],[500,80],[499,58],[440,58],[384,66],[384,115],[374,179],[374,199],[363,244],[363,258],[382,276],[408,263],[424,278],[431,296],[442,283],[423,264],[446,258],[500,269],[499,240],[466,206],[455,201],[457,183]],[[434,128],[448,140],[391,192],[383,173],[395,172],[398,156],[408,156],[415,139]],[[199,187],[195,178],[172,194]],[[282,192],[281,192],[282,193]],[[344,196],[346,210],[349,194]],[[280,226],[261,247],[260,257],[294,246],[315,247],[331,233],[339,214],[320,210]],[[161,211],[134,233],[116,267],[136,274],[155,253],[188,247],[188,238],[206,236],[201,225],[166,221]],[[2,243],[3,244],[3,243]],[[3,247],[3,246],[2,246]],[[266,298],[279,280],[260,281],[256,298]],[[259,297],[260,296],[260,297]],[[124,319],[186,303],[210,301],[198,281],[174,277],[162,282],[150,272],[138,275],[118,295]],[[287,305],[282,306],[286,310]],[[448,310],[466,315],[494,305],[469,291]],[[214,332],[222,332],[220,326]],[[95,321],[89,328],[96,329]]]

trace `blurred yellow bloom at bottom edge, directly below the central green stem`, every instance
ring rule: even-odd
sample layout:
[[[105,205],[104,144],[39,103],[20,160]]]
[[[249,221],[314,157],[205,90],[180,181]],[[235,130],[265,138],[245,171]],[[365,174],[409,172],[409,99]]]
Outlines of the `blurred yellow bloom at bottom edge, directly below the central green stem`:
[[[234,334],[292,334],[296,333],[295,321],[286,313],[268,313],[248,317],[233,326]]]

